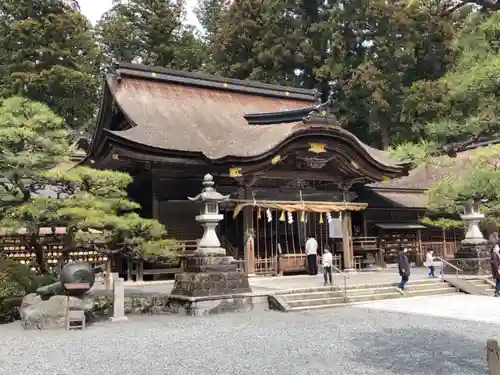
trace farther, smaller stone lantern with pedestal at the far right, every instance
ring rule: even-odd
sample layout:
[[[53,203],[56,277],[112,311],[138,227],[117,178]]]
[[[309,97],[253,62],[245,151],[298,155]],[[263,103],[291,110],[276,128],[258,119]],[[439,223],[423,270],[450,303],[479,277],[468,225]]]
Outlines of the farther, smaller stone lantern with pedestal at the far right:
[[[484,214],[479,212],[479,202],[466,202],[460,217],[466,223],[467,232],[455,253],[456,265],[466,274],[489,274],[490,251],[488,241],[479,229],[479,223],[484,219]]]

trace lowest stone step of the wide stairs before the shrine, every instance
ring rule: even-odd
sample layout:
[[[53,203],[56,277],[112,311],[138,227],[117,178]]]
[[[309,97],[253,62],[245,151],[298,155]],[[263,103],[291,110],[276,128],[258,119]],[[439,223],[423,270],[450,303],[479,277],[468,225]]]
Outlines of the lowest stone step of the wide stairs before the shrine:
[[[394,298],[409,298],[418,296],[430,296],[430,295],[448,295],[457,293],[453,287],[443,287],[439,289],[429,289],[429,290],[415,290],[408,291],[404,295],[399,292],[393,293],[383,293],[383,294],[366,294],[348,297],[346,303],[362,303],[369,301],[378,301],[384,299],[394,299]],[[334,298],[319,298],[319,299],[306,299],[298,301],[289,301],[288,305],[291,311],[298,310],[310,310],[310,309],[320,309],[320,308],[330,308],[345,306],[343,297]]]

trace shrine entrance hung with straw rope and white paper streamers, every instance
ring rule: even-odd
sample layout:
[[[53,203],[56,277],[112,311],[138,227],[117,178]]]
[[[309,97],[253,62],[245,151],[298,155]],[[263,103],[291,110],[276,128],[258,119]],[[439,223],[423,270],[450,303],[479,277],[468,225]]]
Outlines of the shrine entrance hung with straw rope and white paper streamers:
[[[366,208],[352,202],[235,200],[234,217],[243,215],[247,272],[282,275],[306,269],[308,236],[318,242],[318,255],[332,251],[337,268],[354,267],[351,212]],[[318,256],[320,262],[321,256]]]

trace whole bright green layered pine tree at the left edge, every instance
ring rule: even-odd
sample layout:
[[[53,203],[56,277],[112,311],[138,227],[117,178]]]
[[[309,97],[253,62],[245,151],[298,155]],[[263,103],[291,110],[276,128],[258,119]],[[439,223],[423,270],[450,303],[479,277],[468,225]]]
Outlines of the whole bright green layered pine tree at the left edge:
[[[26,228],[42,270],[40,227],[68,228],[74,246],[170,261],[179,250],[156,220],[134,211],[126,173],[56,168],[71,150],[64,120],[45,104],[0,102],[0,227]]]

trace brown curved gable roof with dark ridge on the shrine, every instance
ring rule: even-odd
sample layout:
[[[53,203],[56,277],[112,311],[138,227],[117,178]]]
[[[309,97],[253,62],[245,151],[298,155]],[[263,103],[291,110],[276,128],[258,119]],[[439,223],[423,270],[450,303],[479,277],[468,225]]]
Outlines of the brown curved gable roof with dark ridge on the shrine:
[[[406,174],[405,166],[339,126],[302,119],[254,125],[246,118],[314,107],[312,90],[133,67],[119,67],[107,80],[105,92],[133,125],[109,130],[99,124],[115,137],[155,149],[202,153],[212,161],[263,158],[297,138],[330,137],[344,139],[372,164],[392,174]]]

